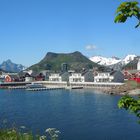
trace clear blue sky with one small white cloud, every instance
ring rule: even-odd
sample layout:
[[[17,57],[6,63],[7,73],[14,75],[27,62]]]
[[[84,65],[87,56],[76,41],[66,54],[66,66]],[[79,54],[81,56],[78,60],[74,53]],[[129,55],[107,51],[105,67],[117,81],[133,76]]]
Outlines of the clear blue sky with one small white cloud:
[[[30,66],[47,52],[140,55],[137,21],[115,24],[121,0],[0,0],[0,63]]]

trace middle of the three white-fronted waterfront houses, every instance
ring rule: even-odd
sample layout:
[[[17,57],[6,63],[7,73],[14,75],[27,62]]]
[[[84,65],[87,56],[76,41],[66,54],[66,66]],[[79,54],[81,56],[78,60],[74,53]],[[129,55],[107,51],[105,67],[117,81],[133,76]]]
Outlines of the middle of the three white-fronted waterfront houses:
[[[69,82],[85,82],[85,77],[81,73],[72,73]]]

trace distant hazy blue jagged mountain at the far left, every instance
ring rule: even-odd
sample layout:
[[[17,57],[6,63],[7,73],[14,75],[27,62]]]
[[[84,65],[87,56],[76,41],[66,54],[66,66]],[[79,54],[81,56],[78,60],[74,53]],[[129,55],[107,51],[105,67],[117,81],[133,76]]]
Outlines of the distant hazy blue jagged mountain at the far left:
[[[25,66],[21,64],[15,64],[10,59],[7,61],[4,61],[2,64],[0,64],[0,69],[8,72],[20,72],[25,69]]]

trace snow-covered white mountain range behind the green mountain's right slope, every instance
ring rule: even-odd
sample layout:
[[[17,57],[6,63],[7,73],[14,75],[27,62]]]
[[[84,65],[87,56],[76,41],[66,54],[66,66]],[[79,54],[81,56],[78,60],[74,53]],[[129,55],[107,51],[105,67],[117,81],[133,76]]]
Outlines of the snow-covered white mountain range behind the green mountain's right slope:
[[[107,58],[107,57],[102,57],[102,56],[93,56],[89,59],[103,66],[112,66],[116,64],[119,64],[120,66],[124,66],[128,64],[129,62],[133,61],[135,57],[137,56],[132,54],[132,55],[127,55],[124,59],[120,59],[117,57]]]

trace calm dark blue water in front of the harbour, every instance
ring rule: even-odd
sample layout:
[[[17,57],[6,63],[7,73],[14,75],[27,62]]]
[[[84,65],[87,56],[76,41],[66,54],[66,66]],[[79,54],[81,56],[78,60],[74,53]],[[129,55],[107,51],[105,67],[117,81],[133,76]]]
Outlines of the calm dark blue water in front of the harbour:
[[[55,127],[62,140],[140,140],[140,125],[118,109],[119,98],[92,90],[0,90],[0,122],[37,133]]]

